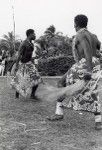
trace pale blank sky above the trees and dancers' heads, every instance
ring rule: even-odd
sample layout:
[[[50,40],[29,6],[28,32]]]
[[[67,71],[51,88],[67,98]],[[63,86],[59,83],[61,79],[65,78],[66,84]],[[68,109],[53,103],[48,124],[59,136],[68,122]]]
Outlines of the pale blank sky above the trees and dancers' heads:
[[[14,5],[16,34],[25,38],[25,31],[34,28],[37,37],[54,25],[57,31],[71,37],[75,34],[73,19],[77,14],[89,18],[88,29],[102,41],[102,0],[0,0],[0,37],[13,30]]]

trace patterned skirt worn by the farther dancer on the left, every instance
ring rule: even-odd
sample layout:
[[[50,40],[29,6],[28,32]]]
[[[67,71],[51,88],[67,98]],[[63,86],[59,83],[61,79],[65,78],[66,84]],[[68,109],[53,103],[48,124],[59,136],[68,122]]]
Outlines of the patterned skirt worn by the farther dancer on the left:
[[[12,77],[11,86],[23,97],[27,97],[30,96],[32,87],[40,82],[41,78],[35,65],[31,61],[28,63],[20,62],[16,75]]]

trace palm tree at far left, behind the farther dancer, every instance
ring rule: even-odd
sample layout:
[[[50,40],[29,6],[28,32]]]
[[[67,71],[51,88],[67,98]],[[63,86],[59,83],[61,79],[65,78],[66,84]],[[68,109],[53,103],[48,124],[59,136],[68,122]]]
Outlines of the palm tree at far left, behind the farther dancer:
[[[0,41],[0,49],[6,48],[11,57],[15,54],[15,52],[18,50],[18,47],[21,43],[21,40],[16,37],[14,37],[13,32],[8,32],[8,35],[4,34],[3,39]]]

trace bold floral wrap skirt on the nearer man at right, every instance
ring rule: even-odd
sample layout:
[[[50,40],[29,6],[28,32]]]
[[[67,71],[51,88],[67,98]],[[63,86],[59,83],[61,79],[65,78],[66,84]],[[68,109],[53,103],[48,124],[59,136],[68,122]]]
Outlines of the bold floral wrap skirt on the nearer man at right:
[[[100,112],[100,102],[98,94],[98,81],[101,78],[99,59],[93,57],[93,71],[91,80],[87,83],[84,89],[75,97],[71,98],[67,107],[75,110],[83,110],[90,112]],[[70,70],[68,70],[66,77],[66,85],[71,85],[87,73],[86,60],[82,58],[79,63],[75,63]]]

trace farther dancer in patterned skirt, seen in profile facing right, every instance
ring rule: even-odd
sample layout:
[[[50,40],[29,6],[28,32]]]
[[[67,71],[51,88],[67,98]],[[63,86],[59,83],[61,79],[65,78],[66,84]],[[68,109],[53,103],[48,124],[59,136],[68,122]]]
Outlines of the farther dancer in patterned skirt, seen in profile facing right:
[[[41,82],[41,78],[34,65],[32,58],[34,45],[32,43],[35,40],[35,33],[33,29],[26,31],[26,40],[22,42],[18,52],[18,58],[15,65],[15,77],[12,82],[13,87],[16,89],[16,98],[21,94],[27,97],[31,93],[31,98],[36,99],[35,91],[38,84]]]

